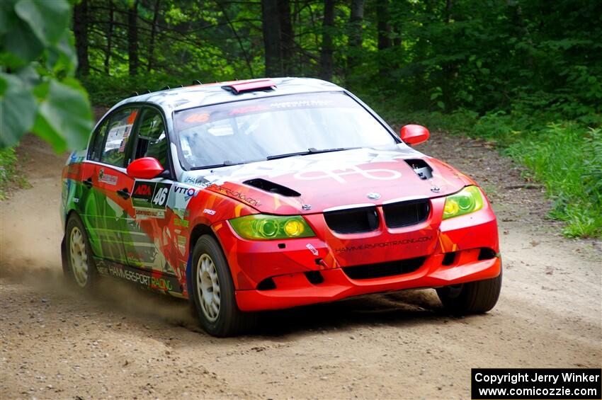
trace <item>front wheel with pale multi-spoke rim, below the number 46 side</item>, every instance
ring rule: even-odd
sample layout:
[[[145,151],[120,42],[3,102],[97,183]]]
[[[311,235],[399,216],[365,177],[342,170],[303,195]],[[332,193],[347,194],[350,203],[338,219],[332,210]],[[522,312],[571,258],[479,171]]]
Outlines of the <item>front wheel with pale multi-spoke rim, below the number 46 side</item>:
[[[193,249],[192,294],[201,326],[211,336],[235,336],[251,330],[256,314],[239,310],[230,268],[212,236],[200,236]]]

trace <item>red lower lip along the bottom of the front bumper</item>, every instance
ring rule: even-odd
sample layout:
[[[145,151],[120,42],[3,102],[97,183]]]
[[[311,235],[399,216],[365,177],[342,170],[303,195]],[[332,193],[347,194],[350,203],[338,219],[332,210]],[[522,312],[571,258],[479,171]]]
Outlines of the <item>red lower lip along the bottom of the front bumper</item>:
[[[303,273],[280,275],[273,278],[276,289],[237,290],[237,304],[246,312],[285,309],[370,293],[457,285],[496,278],[501,272],[499,257],[451,267],[441,265],[441,257],[443,255],[428,257],[424,265],[413,273],[387,278],[352,280],[341,268],[334,268],[320,271],[324,282],[314,285]]]

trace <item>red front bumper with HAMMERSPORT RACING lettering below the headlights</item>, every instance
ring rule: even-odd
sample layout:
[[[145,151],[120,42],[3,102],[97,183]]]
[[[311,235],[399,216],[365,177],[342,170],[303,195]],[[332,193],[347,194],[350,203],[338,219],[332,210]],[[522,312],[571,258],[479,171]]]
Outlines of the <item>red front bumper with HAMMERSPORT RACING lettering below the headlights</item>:
[[[213,229],[225,251],[242,311],[284,309],[498,276],[501,259],[491,206],[441,221],[444,202],[444,198],[431,199],[431,215],[421,224],[380,227],[368,234],[332,234],[322,215],[306,216],[317,234],[307,239],[247,241],[227,222]],[[382,263],[418,258],[416,268],[380,278],[370,274],[358,278],[347,269],[378,268]],[[269,285],[262,285],[266,280]]]

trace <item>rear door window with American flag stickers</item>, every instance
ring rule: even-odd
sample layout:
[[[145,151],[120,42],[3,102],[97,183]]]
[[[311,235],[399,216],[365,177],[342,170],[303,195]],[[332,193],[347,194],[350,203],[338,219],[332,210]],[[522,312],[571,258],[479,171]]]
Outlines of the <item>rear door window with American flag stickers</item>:
[[[110,118],[108,134],[103,147],[101,161],[114,166],[125,166],[125,147],[138,115],[136,108],[119,110]]]

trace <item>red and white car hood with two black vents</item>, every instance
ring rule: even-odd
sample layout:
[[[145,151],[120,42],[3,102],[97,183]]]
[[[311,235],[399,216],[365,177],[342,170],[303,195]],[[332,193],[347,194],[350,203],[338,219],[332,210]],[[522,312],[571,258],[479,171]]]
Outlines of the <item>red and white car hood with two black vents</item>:
[[[423,163],[432,176],[412,168]],[[474,183],[406,144],[187,171],[181,181],[279,215],[440,197]]]

